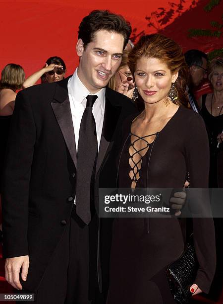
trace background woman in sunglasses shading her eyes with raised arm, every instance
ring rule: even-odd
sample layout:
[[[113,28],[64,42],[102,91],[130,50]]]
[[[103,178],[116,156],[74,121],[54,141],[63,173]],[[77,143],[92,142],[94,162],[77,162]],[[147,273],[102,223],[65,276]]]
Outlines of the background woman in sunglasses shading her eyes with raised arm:
[[[56,82],[64,78],[66,65],[62,58],[53,56],[48,58],[46,65],[40,71],[29,76],[23,83],[22,87],[26,88],[34,85],[40,78],[42,83]]]

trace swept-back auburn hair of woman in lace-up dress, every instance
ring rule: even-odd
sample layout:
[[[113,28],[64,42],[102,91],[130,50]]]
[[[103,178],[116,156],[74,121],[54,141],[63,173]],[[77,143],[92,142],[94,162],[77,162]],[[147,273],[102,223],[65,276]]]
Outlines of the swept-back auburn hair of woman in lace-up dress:
[[[175,81],[178,99],[174,103],[188,107],[186,86],[189,78],[189,69],[181,47],[174,40],[161,34],[144,35],[128,56],[128,66],[133,76],[137,61],[141,57],[157,58],[167,65],[171,73],[178,72],[178,77]]]

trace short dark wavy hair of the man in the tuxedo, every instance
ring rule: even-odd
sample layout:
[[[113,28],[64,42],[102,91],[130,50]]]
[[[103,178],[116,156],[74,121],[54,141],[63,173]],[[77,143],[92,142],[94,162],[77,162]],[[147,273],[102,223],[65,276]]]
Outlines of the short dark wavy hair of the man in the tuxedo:
[[[84,49],[94,40],[94,34],[99,30],[107,30],[123,35],[124,46],[128,43],[131,34],[131,25],[121,15],[111,13],[109,10],[93,10],[85,16],[80,23],[78,39],[82,39]]]

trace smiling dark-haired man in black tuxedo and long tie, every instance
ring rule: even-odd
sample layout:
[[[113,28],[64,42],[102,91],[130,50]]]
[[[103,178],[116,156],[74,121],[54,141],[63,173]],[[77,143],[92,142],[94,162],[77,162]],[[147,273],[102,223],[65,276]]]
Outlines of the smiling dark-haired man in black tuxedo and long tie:
[[[17,95],[4,174],[3,255],[6,280],[35,293],[35,303],[106,303],[111,222],[97,216],[98,188],[115,186],[121,125],[136,111],[106,85],[130,33],[121,16],[91,12],[79,26],[73,76]]]

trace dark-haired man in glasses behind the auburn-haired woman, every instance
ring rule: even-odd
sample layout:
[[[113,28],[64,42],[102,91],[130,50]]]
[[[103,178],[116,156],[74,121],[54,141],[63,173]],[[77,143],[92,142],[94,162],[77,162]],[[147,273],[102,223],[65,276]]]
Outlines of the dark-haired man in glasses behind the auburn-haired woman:
[[[203,79],[207,78],[207,55],[200,50],[189,50],[184,54],[186,64],[189,67],[190,79],[188,87],[188,98],[191,108],[199,113],[199,106],[193,90]]]

